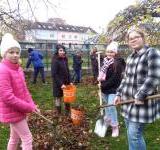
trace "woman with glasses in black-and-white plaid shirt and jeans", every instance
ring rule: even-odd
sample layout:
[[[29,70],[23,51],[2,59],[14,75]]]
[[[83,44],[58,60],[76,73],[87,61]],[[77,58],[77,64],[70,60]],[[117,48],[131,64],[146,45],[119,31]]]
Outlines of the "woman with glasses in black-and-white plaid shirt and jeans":
[[[153,95],[159,85],[160,52],[145,45],[144,33],[138,28],[130,29],[126,40],[133,52],[127,58],[125,75],[114,102],[135,100],[135,103],[122,106],[129,150],[146,150],[144,126],[160,118],[160,101],[145,99]]]

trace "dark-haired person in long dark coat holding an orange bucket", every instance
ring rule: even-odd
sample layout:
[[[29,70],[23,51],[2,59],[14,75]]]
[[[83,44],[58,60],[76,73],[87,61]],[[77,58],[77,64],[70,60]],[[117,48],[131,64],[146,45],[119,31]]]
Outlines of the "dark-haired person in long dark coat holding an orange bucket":
[[[55,97],[55,107],[58,114],[61,113],[61,103],[63,97],[63,88],[72,84],[70,80],[70,72],[68,67],[68,59],[65,47],[57,45],[55,54],[52,57],[51,74],[53,79],[53,96]],[[65,103],[66,115],[70,112],[70,104]]]

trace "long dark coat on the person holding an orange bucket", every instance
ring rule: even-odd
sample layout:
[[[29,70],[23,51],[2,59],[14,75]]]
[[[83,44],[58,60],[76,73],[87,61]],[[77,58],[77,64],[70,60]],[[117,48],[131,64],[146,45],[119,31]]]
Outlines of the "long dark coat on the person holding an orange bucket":
[[[70,83],[70,73],[67,58],[53,56],[51,64],[51,74],[53,79],[53,96],[62,97],[63,91],[61,86]]]

